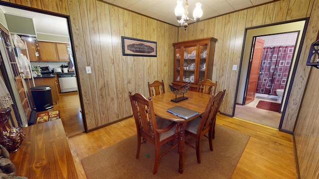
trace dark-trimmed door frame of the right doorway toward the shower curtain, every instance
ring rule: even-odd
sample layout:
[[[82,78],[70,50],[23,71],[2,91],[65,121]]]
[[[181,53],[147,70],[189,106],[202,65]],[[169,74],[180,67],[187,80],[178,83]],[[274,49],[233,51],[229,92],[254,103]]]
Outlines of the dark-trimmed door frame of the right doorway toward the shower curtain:
[[[246,83],[245,78],[247,78],[247,60],[246,63],[244,63],[244,59],[247,58],[247,51],[250,54],[251,52],[251,47],[252,47],[252,39],[251,36],[263,36],[263,35],[269,35],[269,34],[278,34],[278,33],[285,33],[285,32],[296,32],[296,31],[301,31],[299,33],[299,36],[297,38],[297,45],[294,53],[294,61],[293,66],[290,70],[290,81],[287,83],[288,88],[285,96],[285,100],[283,100],[283,113],[279,125],[279,130],[282,128],[282,124],[284,121],[285,117],[285,112],[286,112],[286,106],[288,104],[288,100],[290,98],[290,91],[292,89],[293,83],[294,83],[294,77],[297,71],[297,66],[299,62],[299,57],[302,51],[302,44],[305,39],[307,27],[308,27],[308,22],[309,18],[301,18],[301,19],[296,19],[296,20],[291,20],[291,21],[285,21],[285,22],[280,22],[280,23],[273,23],[273,24],[268,24],[268,25],[261,25],[261,26],[256,26],[256,27],[249,27],[245,29],[245,34],[244,34],[244,39],[243,39],[243,47],[242,47],[242,53],[241,53],[241,59],[240,59],[240,64],[239,64],[239,75],[238,75],[238,80],[237,80],[237,85],[236,85],[236,92],[235,92],[235,99],[234,99],[234,104],[233,104],[233,113],[232,116],[235,114],[235,108],[236,104],[243,104],[243,92],[245,91],[245,86],[243,87],[243,83]],[[291,25],[293,24],[293,25]],[[299,24],[300,26],[296,26],[295,24]],[[301,26],[301,24],[303,24]],[[291,25],[291,29],[283,28],[285,25]],[[293,30],[295,28],[295,30]],[[250,35],[248,35],[248,31],[250,31]],[[246,55],[245,55],[246,54]],[[243,68],[245,67],[245,68]],[[286,130],[281,130],[285,131],[287,133],[292,133],[292,131],[286,131]]]

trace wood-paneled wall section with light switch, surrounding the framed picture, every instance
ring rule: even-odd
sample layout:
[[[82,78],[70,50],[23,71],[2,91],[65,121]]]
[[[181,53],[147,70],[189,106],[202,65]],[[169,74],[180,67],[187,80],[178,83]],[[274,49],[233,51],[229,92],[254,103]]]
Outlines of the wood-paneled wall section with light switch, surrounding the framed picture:
[[[168,87],[177,27],[101,1],[68,4],[88,129],[132,115],[129,91],[147,96],[154,80]],[[156,41],[157,57],[122,56],[121,36]]]

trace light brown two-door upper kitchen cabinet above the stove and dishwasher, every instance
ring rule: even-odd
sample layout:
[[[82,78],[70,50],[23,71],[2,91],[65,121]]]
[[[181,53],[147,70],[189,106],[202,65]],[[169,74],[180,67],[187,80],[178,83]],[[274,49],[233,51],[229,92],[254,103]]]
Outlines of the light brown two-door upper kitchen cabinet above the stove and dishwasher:
[[[38,41],[41,62],[68,62],[66,43]]]

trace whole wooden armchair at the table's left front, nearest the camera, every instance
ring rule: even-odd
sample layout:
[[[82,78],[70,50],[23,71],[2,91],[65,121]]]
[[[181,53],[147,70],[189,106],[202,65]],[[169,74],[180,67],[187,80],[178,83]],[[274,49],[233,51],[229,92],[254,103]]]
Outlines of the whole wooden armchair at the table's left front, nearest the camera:
[[[177,139],[178,126],[175,122],[155,116],[151,96],[147,99],[140,93],[135,93],[134,95],[132,95],[131,91],[129,93],[138,137],[136,158],[139,158],[142,143],[149,141],[154,144],[155,164],[153,174],[156,174],[160,157],[178,146],[178,142],[176,144],[172,143],[174,139]],[[143,141],[141,140],[142,138]],[[171,144],[170,148],[160,154],[160,146],[166,143]]]

